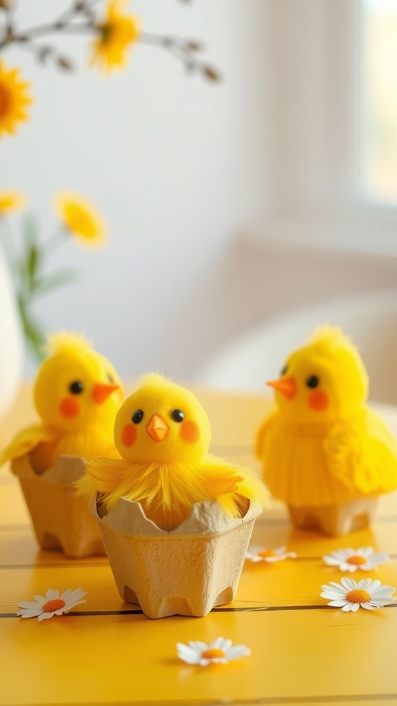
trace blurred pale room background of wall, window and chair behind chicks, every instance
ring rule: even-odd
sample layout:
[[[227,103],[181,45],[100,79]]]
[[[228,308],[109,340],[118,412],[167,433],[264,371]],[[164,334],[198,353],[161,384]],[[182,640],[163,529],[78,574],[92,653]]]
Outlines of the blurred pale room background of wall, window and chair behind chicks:
[[[20,0],[20,24],[66,6]],[[372,396],[396,402],[397,3],[129,7],[150,32],[201,40],[223,80],[143,44],[107,78],[87,68],[80,37],[57,38],[77,60],[70,75],[7,50],[35,104],[1,141],[2,185],[28,193],[45,235],[61,189],[96,203],[110,232],[99,253],[59,251],[54,265],[78,281],[37,316],[85,332],[124,378],[153,369],[259,391],[290,345],[340,323]]]

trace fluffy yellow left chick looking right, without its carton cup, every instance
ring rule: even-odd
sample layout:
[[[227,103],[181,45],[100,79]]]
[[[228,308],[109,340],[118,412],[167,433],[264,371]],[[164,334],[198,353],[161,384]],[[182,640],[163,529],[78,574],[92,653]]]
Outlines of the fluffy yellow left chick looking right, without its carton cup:
[[[41,424],[24,429],[0,463],[29,454],[40,474],[62,455],[118,455],[113,428],[122,388],[112,364],[80,335],[49,336],[49,357],[37,374],[35,406]]]

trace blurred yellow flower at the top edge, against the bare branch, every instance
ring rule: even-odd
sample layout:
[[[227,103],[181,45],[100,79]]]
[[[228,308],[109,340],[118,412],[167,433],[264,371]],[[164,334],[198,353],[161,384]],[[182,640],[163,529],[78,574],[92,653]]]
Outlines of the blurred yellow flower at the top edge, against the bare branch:
[[[125,0],[111,0],[107,6],[104,22],[97,25],[98,37],[93,42],[91,64],[100,64],[104,71],[123,68],[126,49],[136,42],[140,33],[139,18],[123,15]]]

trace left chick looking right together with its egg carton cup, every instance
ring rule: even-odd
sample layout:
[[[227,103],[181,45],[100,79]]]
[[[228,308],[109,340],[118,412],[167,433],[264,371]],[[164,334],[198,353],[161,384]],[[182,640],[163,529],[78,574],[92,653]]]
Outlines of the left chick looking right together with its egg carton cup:
[[[49,336],[34,400],[40,424],[20,431],[0,456],[20,481],[37,541],[66,556],[103,554],[97,525],[73,483],[85,459],[118,455],[114,419],[122,388],[112,364],[81,335]]]

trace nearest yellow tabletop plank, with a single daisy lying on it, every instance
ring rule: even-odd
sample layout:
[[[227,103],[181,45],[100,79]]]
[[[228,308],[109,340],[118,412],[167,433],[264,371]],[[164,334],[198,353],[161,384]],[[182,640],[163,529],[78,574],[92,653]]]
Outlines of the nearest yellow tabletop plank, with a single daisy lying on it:
[[[397,611],[300,610],[214,614],[203,619],[62,616],[0,620],[1,694],[9,705],[357,703],[397,699]],[[227,665],[189,666],[176,642],[218,635],[251,648]],[[16,678],[16,666],[18,674]],[[329,701],[328,701],[329,702]]]

